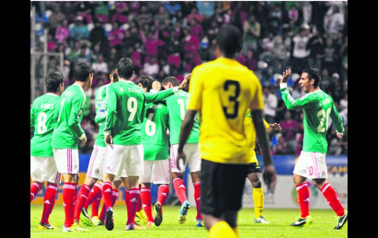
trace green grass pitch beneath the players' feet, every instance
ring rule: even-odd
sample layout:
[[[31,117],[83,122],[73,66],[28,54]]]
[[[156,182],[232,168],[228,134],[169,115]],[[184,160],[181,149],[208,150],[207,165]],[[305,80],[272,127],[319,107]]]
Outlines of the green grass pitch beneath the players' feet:
[[[57,226],[57,230],[38,230],[43,205],[30,205],[30,237],[31,238],[201,238],[209,237],[205,228],[196,227],[194,218],[196,209],[191,208],[188,219],[184,224],[177,221],[179,207],[165,206],[163,208],[163,222],[160,227],[151,227],[147,230],[124,231],[127,221],[127,211],[124,206],[114,207],[114,230],[108,231],[105,226],[84,227],[89,230],[86,233],[62,233],[61,227],[64,221],[62,205],[56,205],[50,216],[50,222]],[[100,207],[101,208],[101,207]],[[90,212],[90,207],[88,212]],[[335,213],[332,210],[312,210],[313,223],[309,227],[292,228],[288,225],[295,221],[299,211],[295,209],[266,209],[264,217],[270,224],[254,224],[253,209],[242,209],[239,212],[238,227],[240,237],[258,238],[343,238],[348,237],[348,222],[341,230],[333,230],[336,225]]]

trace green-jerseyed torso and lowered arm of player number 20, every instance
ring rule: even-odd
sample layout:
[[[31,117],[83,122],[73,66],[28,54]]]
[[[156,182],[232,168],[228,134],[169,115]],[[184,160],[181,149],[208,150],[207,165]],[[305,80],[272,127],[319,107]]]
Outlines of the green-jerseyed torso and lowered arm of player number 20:
[[[308,100],[303,109],[303,148],[304,152],[321,152],[326,154],[328,143],[326,139],[329,116],[336,116],[337,129],[341,132],[342,120],[331,96],[319,90],[304,95],[300,100]],[[332,115],[331,115],[332,114]]]

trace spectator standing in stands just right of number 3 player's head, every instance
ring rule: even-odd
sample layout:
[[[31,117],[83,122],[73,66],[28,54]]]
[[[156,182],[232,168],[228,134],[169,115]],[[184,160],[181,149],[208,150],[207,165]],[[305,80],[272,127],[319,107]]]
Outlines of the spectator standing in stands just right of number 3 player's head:
[[[249,17],[249,20],[244,22],[243,32],[244,53],[247,53],[249,49],[252,49],[254,52],[256,52],[258,39],[261,34],[261,26],[260,23],[256,21],[254,15],[251,15]]]

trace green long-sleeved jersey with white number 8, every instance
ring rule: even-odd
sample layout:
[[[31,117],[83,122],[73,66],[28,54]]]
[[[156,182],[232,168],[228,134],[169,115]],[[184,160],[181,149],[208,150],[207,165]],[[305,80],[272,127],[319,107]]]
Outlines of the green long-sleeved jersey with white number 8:
[[[34,100],[30,108],[30,130],[34,130],[30,140],[31,156],[54,156],[51,137],[55,127],[54,111],[59,103],[60,97],[54,93],[46,93]]]

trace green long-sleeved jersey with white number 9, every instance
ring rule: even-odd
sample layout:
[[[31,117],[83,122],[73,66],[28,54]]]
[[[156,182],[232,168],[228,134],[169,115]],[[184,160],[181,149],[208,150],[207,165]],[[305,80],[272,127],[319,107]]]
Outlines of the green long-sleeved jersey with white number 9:
[[[132,81],[118,81],[108,86],[105,134],[115,145],[140,145],[140,126],[145,113],[143,90]]]

